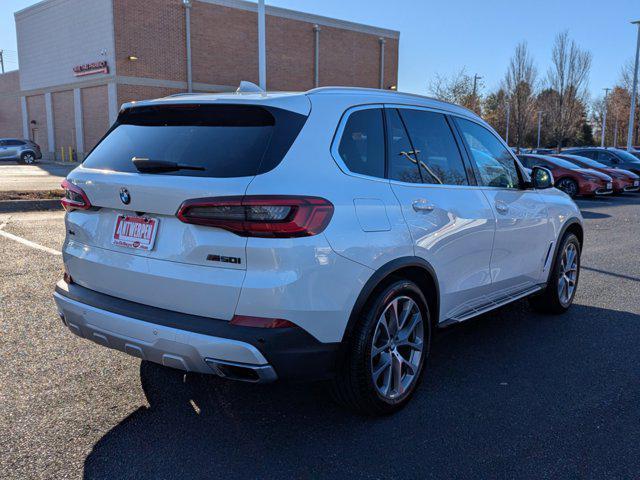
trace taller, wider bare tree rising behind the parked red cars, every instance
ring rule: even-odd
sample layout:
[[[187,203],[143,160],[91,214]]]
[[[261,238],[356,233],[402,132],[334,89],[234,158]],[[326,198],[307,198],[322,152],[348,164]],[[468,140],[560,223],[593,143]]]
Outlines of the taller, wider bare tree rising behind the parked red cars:
[[[572,137],[582,122],[587,100],[591,53],[582,50],[567,32],[556,36],[552,65],[547,73],[548,87],[556,92],[549,118],[558,151],[564,139]]]

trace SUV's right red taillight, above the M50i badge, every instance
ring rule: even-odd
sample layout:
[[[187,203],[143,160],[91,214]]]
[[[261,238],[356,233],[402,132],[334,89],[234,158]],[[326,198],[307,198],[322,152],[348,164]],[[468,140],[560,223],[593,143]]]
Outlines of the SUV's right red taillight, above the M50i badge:
[[[333,204],[320,197],[289,195],[196,198],[184,202],[177,215],[185,223],[243,237],[308,237],[326,228]]]

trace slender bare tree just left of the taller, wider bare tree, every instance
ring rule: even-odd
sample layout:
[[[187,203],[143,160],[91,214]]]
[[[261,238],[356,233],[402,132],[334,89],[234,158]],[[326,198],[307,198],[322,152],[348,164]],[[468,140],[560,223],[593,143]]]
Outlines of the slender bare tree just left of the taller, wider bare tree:
[[[529,54],[526,42],[519,43],[509,62],[503,80],[503,89],[511,109],[511,122],[515,130],[515,145],[518,151],[524,143],[527,130],[534,116],[536,102],[535,83],[537,71]]]

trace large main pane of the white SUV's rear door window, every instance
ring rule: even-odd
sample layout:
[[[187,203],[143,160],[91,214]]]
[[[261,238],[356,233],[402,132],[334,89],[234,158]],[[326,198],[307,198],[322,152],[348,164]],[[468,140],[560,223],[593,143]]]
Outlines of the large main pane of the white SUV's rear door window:
[[[399,110],[418,159],[424,183],[468,185],[464,163],[447,119],[441,113]]]

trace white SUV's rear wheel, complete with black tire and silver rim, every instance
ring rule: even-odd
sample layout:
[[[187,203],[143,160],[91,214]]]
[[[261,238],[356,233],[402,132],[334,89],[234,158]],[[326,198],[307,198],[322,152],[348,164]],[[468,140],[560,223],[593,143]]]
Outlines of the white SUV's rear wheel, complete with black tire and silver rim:
[[[347,340],[347,353],[332,383],[335,400],[371,416],[404,407],[429,355],[430,319],[424,295],[409,280],[394,281],[375,293]]]

